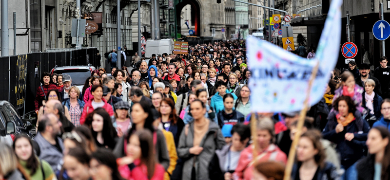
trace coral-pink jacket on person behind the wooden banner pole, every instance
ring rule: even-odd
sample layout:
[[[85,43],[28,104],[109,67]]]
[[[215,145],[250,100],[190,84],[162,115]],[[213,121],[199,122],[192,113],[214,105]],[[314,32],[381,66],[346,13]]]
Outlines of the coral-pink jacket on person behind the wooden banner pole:
[[[253,148],[254,146],[251,144],[242,150],[233,174],[234,180],[252,180],[253,162],[276,161],[287,163],[286,154],[275,144],[270,144],[263,152],[258,153],[255,161],[253,161]]]

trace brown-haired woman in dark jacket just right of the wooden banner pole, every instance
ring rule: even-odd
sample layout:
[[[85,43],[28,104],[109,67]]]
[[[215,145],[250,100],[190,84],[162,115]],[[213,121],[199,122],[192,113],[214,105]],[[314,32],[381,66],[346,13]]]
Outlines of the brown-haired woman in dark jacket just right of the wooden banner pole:
[[[325,162],[325,150],[321,143],[321,133],[309,130],[303,133],[298,142],[297,162],[292,167],[292,180],[339,180],[337,168]]]

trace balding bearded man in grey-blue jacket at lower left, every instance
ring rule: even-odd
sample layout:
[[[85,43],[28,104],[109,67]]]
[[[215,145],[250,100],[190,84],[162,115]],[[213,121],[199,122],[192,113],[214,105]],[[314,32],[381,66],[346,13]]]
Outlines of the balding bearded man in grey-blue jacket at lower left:
[[[39,149],[39,159],[48,162],[56,171],[64,150],[62,140],[58,137],[61,134],[62,123],[53,113],[44,114],[38,121],[38,133],[34,138],[38,147],[34,146],[34,148]]]

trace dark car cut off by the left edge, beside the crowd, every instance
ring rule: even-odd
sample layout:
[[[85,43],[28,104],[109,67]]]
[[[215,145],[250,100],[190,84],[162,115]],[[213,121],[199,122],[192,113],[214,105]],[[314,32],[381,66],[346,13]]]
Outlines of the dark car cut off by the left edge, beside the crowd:
[[[24,125],[18,111],[7,101],[0,101],[0,141],[12,144],[16,134],[25,133],[31,138],[30,130],[33,128],[30,122]]]

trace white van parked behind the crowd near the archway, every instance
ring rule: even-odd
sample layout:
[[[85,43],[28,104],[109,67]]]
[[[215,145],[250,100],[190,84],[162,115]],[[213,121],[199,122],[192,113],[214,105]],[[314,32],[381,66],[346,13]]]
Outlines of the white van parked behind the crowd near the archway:
[[[150,39],[146,41],[145,57],[152,54],[172,54],[175,42],[173,39]]]

